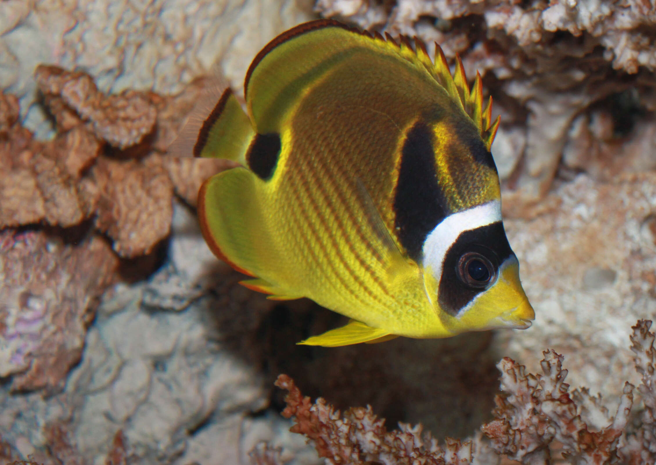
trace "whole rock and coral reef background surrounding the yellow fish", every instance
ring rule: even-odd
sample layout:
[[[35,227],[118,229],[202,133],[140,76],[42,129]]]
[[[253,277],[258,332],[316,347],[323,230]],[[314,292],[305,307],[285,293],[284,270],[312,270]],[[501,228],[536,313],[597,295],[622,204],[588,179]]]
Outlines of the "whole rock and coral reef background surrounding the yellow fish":
[[[530,329],[297,346],[344,319],[240,287],[209,251],[196,195],[226,165],[167,147],[213,76],[243,92],[270,39],[319,17],[438,42],[482,74]],[[632,326],[656,313],[655,27],[647,0],[1,0],[0,459],[321,463],[280,414],[285,373],[388,430],[474,437],[473,458],[430,455],[404,430],[389,440],[421,452],[384,455],[339,433],[377,444],[369,417],[322,417],[315,443],[352,449],[319,447],[333,463],[653,463],[653,336]],[[602,399],[566,394],[548,349]]]

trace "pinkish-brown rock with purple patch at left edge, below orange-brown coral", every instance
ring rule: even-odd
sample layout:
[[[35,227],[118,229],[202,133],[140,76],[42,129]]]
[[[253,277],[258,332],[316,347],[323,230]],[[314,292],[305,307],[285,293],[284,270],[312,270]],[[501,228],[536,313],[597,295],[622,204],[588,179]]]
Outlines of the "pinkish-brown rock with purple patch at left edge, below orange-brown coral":
[[[82,357],[118,259],[99,236],[0,232],[0,376],[14,391],[56,391]]]

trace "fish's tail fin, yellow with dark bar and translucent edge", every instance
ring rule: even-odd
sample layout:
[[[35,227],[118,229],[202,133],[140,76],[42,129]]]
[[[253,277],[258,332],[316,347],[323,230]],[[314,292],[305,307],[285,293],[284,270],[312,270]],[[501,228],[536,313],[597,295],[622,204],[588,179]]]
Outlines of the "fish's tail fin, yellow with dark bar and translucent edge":
[[[221,94],[214,106],[216,94],[203,92],[198,104],[178,138],[171,144],[174,157],[209,157],[246,164],[246,151],[255,135],[251,120],[230,87]]]

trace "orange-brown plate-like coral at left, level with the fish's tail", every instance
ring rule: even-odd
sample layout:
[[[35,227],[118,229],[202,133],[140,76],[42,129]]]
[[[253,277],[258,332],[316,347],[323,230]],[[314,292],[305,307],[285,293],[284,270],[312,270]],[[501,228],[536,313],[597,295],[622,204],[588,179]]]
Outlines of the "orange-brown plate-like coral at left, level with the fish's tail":
[[[56,66],[39,66],[36,80],[57,134],[33,139],[16,97],[0,94],[0,229],[91,218],[120,256],[139,256],[169,234],[174,193],[194,205],[201,182],[224,166],[164,155],[203,81],[163,97],[108,96],[86,73]]]

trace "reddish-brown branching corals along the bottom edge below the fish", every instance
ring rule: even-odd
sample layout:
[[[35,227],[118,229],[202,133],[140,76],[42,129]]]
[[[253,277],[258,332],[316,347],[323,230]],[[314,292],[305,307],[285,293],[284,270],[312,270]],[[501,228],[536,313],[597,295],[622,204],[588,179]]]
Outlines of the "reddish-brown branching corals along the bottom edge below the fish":
[[[562,355],[545,351],[542,373],[526,373],[525,367],[505,357],[501,394],[497,395],[495,419],[481,429],[489,443],[446,439],[440,447],[421,425],[400,424],[388,431],[371,407],[352,408],[340,414],[324,399],[315,403],[303,397],[293,380],[281,374],[276,386],[289,391],[283,416],[294,417],[292,432],[311,439],[327,463],[365,464],[470,464],[495,462],[483,455],[506,455],[522,464],[550,464],[552,443],[573,465],[653,464],[656,462],[656,349],[651,321],[640,320],[630,336],[636,370],[642,376],[638,393],[644,409],[632,412],[634,386],[625,383],[617,413],[609,415],[600,397],[586,388],[570,391],[565,383]],[[262,447],[260,447],[261,449]],[[262,449],[264,450],[264,449]],[[476,457],[476,450],[482,456]],[[277,463],[276,455],[254,454],[254,462]],[[498,459],[497,459],[498,460]]]

